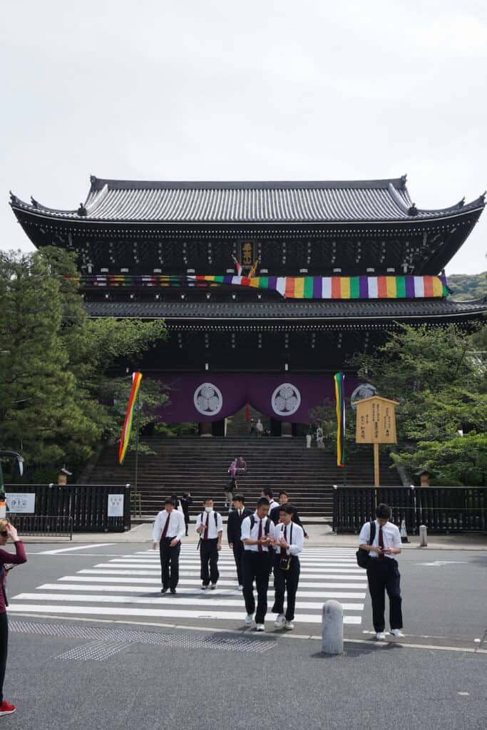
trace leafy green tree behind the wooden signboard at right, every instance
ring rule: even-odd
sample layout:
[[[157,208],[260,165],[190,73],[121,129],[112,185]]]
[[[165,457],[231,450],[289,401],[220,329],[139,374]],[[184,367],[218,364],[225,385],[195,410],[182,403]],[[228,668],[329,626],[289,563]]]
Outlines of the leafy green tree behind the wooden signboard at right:
[[[391,456],[411,472],[423,467],[442,480],[485,480],[487,396],[478,337],[454,325],[398,326],[373,356],[355,358],[360,377],[399,401],[399,454]]]

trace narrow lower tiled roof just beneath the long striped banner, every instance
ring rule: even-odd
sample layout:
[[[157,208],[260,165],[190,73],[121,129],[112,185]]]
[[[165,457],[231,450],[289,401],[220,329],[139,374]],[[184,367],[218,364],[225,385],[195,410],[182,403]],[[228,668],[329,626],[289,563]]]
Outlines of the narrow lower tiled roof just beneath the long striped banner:
[[[468,318],[487,311],[487,301],[451,299],[369,301],[86,301],[92,317],[166,320],[407,320]]]

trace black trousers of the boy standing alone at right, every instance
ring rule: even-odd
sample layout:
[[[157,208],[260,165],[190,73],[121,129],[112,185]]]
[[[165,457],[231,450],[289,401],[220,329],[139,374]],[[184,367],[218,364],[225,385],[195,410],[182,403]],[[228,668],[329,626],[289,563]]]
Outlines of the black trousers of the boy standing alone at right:
[[[372,599],[372,622],[375,631],[386,629],[384,612],[386,596],[389,596],[389,621],[391,629],[402,629],[401,575],[394,558],[370,558],[367,567],[367,579]]]

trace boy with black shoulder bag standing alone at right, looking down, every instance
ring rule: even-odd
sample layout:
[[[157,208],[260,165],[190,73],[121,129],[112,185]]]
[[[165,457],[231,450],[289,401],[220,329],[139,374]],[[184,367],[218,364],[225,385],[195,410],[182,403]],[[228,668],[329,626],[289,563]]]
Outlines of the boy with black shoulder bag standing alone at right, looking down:
[[[372,621],[376,638],[386,638],[385,591],[389,597],[389,621],[391,634],[403,637],[402,633],[402,598],[401,575],[395,556],[402,551],[399,528],[389,522],[391,508],[387,504],[377,504],[375,510],[375,537],[370,541],[370,523],[366,522],[358,536],[358,545],[369,553],[367,580],[369,581],[370,598],[372,599]]]

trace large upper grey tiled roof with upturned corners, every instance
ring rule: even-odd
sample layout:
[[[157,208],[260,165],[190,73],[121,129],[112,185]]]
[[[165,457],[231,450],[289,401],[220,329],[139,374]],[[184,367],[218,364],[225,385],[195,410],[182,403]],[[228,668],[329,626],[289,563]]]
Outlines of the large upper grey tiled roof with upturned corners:
[[[12,196],[14,210],[48,218],[153,223],[321,223],[448,218],[483,208],[484,199],[439,210],[415,207],[405,177],[350,182],[175,183],[103,180],[77,210]]]

